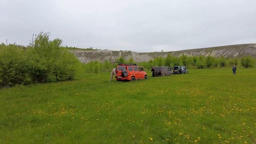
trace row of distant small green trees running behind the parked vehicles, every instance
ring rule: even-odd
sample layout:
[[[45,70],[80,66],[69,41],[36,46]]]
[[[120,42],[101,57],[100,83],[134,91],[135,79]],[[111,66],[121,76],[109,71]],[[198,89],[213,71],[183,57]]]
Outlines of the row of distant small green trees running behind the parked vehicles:
[[[119,57],[116,62],[134,64],[133,58],[125,60],[123,57]],[[168,54],[166,58],[156,57],[148,62],[139,62],[139,66],[143,67],[144,70],[150,70],[153,66],[186,66],[187,68],[203,69],[203,68],[231,68],[236,65],[238,67],[252,68],[255,65],[255,60],[250,56],[244,56],[242,58],[226,58],[221,56],[215,58],[212,56],[186,56],[174,57]],[[84,70],[86,72],[110,72],[115,68],[118,63],[111,63],[110,61],[98,62],[91,61],[84,64]]]

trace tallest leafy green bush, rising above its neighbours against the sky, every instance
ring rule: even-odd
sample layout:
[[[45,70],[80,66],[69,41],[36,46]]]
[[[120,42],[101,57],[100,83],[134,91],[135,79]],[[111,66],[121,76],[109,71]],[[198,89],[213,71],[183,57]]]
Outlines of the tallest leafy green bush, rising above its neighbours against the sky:
[[[50,33],[39,33],[30,44],[29,74],[33,82],[71,80],[78,60],[60,47],[61,39],[49,40]]]

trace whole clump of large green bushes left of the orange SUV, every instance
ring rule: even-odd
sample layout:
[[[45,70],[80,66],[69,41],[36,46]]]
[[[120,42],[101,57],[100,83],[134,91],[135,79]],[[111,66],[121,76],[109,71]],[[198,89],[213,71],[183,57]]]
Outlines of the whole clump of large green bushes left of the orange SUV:
[[[71,80],[79,60],[62,48],[62,40],[49,39],[50,33],[33,36],[27,47],[0,44],[0,85],[45,83]]]

